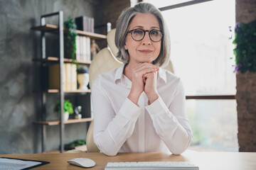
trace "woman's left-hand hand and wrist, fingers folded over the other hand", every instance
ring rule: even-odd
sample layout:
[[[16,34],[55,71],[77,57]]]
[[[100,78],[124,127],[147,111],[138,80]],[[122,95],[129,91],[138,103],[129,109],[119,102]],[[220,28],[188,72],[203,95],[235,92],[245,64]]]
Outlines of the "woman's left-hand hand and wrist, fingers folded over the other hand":
[[[159,67],[150,63],[137,64],[132,70],[132,89],[129,93],[129,100],[138,105],[139,96],[144,91],[144,74],[159,71]]]

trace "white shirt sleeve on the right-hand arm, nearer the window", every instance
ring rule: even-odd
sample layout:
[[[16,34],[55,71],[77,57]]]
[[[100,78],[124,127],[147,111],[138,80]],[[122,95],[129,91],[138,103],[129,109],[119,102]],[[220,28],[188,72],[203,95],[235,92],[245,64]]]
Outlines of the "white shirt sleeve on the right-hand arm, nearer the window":
[[[168,93],[168,91],[166,91]],[[181,81],[169,107],[159,97],[146,106],[157,135],[173,154],[181,154],[191,144],[192,130],[186,115],[186,100]]]

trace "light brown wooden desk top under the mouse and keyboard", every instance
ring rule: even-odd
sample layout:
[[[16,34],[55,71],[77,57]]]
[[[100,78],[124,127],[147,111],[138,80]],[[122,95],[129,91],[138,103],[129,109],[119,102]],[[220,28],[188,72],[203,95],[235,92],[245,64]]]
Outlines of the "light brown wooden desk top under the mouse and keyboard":
[[[67,163],[69,159],[87,157],[96,162],[89,169],[104,169],[107,162],[156,162],[156,161],[187,161],[199,166],[200,170],[232,169],[255,170],[256,152],[193,152],[186,151],[181,155],[164,154],[160,152],[120,153],[116,157],[107,157],[101,153],[79,154],[0,154],[0,157],[34,159],[50,162],[35,169],[82,169]]]

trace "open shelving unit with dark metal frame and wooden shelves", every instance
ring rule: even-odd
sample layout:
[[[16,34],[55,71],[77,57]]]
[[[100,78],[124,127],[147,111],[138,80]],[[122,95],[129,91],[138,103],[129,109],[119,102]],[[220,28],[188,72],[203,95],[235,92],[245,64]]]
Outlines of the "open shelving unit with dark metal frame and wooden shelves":
[[[58,26],[51,25],[46,23],[46,18],[51,16],[58,16]],[[41,135],[42,135],[42,152],[46,152],[46,126],[53,126],[53,125],[59,125],[60,126],[60,152],[64,152],[64,145],[65,145],[65,137],[64,137],[64,130],[66,124],[71,123],[88,123],[92,121],[92,118],[80,118],[80,119],[69,119],[67,121],[64,121],[64,111],[63,111],[63,103],[66,95],[72,94],[75,96],[81,96],[81,95],[90,95],[90,89],[87,91],[85,90],[65,90],[63,85],[63,75],[64,75],[64,64],[65,63],[73,63],[71,59],[64,57],[64,35],[67,33],[67,29],[63,28],[63,11],[58,11],[56,13],[48,13],[46,15],[41,16],[41,26],[35,26],[32,27],[31,30],[39,31],[41,33],[41,57],[33,59],[33,62],[39,62],[41,64],[41,120],[34,122],[35,125],[41,125]],[[105,40],[107,39],[106,35],[101,35],[97,33],[89,33],[82,30],[76,30],[78,35],[85,36],[88,38],[91,38],[92,40]],[[59,56],[53,57],[53,56],[46,56],[46,33],[58,35],[58,44],[59,44]],[[90,61],[87,62],[80,62],[75,61],[78,64],[84,64],[90,66]],[[58,89],[48,89],[46,84],[43,84],[43,82],[46,81],[46,68],[50,64],[59,64],[59,88]],[[59,100],[60,100],[60,118],[58,120],[46,120],[46,102],[47,102],[47,96],[46,94],[59,94]],[[90,96],[89,96],[90,97]],[[90,102],[90,101],[89,101]],[[86,108],[87,110],[90,110],[90,105]],[[90,113],[90,111],[87,111],[87,113]]]

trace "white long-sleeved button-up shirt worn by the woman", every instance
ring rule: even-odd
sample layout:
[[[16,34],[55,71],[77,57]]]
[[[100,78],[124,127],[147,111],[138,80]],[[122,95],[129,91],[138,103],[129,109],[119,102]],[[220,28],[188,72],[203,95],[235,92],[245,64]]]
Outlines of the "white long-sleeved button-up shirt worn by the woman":
[[[171,152],[181,154],[191,144],[181,79],[160,69],[159,98],[148,105],[143,92],[137,106],[127,98],[132,87],[124,65],[100,74],[92,84],[93,138],[100,152]]]

